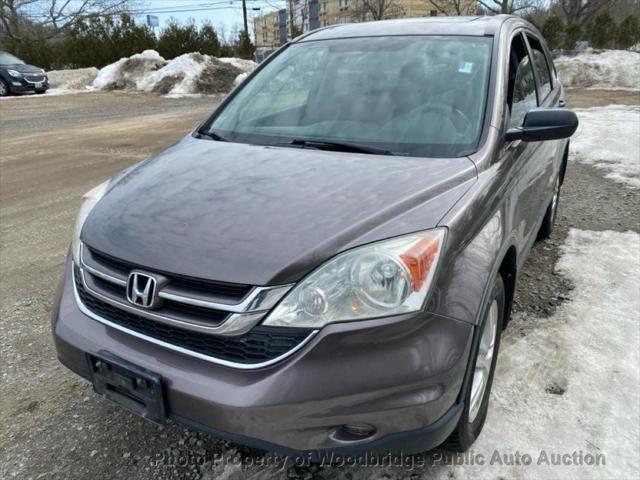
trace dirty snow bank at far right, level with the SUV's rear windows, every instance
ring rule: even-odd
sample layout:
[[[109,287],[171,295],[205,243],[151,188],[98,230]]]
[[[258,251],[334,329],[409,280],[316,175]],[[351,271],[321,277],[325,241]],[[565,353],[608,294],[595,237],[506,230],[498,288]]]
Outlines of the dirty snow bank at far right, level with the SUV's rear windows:
[[[640,90],[640,53],[628,50],[586,50],[555,61],[568,88]]]

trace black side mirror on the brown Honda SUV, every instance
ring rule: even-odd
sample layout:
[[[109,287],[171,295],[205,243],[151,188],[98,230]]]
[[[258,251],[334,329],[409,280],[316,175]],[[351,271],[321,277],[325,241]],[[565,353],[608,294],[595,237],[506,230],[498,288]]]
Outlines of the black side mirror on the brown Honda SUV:
[[[578,117],[566,108],[534,108],[524,117],[522,127],[507,130],[505,140],[540,142],[569,138],[578,128]]]

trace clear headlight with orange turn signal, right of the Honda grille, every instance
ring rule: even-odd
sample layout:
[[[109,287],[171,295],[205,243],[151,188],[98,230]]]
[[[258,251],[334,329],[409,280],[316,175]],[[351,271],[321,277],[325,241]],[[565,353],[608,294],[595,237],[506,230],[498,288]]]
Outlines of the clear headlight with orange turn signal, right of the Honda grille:
[[[422,309],[445,229],[396,237],[342,253],[302,280],[264,325],[322,327]]]

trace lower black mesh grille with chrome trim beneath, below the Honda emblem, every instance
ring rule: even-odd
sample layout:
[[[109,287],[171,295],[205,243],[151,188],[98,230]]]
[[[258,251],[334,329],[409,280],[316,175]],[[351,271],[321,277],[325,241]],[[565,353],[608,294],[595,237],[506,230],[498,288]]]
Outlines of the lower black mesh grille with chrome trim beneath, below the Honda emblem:
[[[74,276],[80,300],[99,317],[134,332],[221,360],[247,365],[273,360],[290,352],[311,333],[307,329],[258,326],[237,337],[224,337],[176,328],[95,298],[85,290],[77,268],[74,268]]]

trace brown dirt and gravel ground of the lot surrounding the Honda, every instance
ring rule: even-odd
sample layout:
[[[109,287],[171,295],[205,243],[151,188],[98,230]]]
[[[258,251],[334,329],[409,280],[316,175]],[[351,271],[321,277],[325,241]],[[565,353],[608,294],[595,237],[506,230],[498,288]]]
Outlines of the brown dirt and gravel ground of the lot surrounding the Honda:
[[[568,100],[580,107],[640,103],[636,93],[625,92],[570,92]],[[180,138],[215,101],[106,93],[0,101],[0,478],[243,478],[240,468],[212,457],[259,454],[174,425],[154,426],[97,398],[57,362],[50,334],[51,301],[80,195]],[[504,344],[546,328],[538,319],[552,315],[573,288],[554,274],[570,227],[639,232],[639,211],[637,189],[572,163],[556,231],[526,264]],[[181,457],[205,463],[184,465]],[[274,472],[283,478],[378,478],[371,469],[288,464],[260,471],[249,470],[252,478]],[[397,476],[436,473],[443,472]]]

